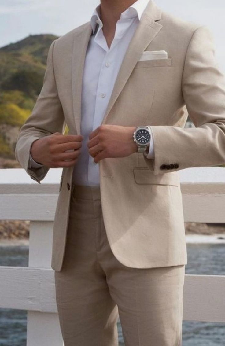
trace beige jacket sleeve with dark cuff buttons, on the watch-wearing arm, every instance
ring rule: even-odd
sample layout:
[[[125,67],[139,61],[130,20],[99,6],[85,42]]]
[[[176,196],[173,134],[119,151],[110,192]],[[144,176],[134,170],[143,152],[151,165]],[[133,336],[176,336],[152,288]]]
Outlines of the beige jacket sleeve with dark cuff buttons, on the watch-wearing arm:
[[[207,26],[198,27],[191,37],[182,93],[195,127],[151,126],[155,158],[145,162],[154,175],[225,163],[225,78]]]

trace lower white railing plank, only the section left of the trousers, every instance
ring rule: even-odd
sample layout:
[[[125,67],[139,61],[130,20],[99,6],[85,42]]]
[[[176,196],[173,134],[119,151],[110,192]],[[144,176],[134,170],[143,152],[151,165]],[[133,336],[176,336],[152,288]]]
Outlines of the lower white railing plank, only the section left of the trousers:
[[[0,266],[0,308],[57,312],[54,270]]]

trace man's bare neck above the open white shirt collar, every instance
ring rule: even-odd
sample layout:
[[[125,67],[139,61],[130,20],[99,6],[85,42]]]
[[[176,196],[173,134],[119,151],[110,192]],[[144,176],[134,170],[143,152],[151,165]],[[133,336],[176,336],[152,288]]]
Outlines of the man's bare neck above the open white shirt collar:
[[[116,22],[129,6],[136,0],[101,0],[101,21],[104,31],[115,31]]]

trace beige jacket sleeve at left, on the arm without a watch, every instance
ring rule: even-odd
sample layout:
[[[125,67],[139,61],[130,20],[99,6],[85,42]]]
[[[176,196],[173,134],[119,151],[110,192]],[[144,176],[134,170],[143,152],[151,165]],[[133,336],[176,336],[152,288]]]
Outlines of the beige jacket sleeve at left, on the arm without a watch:
[[[15,157],[30,177],[41,184],[49,167],[30,167],[30,148],[32,143],[44,136],[55,132],[62,133],[64,114],[54,76],[53,50],[56,40],[49,48],[47,66],[43,80],[42,90],[37,98],[31,115],[21,126],[15,147]]]

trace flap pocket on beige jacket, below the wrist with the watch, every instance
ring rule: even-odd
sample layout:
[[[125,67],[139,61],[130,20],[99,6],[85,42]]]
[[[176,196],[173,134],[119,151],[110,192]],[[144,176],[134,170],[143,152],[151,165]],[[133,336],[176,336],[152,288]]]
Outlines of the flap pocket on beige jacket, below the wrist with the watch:
[[[134,180],[137,184],[156,184],[179,186],[180,180],[177,172],[154,175],[148,168],[134,168]]]

